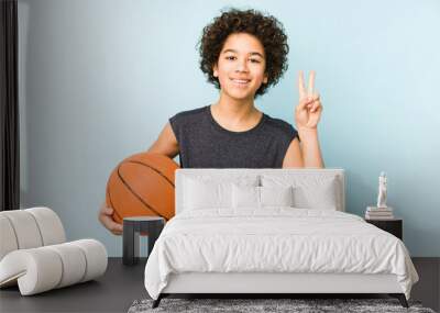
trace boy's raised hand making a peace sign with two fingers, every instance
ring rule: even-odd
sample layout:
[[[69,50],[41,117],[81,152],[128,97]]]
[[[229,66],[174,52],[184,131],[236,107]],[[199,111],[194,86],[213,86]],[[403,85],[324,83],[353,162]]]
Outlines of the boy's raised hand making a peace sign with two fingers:
[[[316,130],[321,116],[322,105],[319,94],[315,93],[315,70],[310,71],[309,86],[306,90],[302,70],[298,75],[299,103],[295,108],[295,122],[298,130]]]

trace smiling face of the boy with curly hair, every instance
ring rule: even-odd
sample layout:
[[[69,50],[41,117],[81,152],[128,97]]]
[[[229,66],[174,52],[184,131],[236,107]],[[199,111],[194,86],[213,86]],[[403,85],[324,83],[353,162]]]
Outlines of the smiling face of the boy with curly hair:
[[[267,82],[266,60],[262,43],[246,33],[231,34],[224,42],[213,76],[221,92],[234,99],[253,99],[262,83]]]

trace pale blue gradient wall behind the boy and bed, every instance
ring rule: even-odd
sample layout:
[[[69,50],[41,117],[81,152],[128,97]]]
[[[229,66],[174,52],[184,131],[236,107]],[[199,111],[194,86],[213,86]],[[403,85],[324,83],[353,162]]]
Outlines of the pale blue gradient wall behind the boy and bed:
[[[69,241],[120,256],[122,238],[97,220],[107,179],[169,116],[217,100],[196,44],[228,7],[275,15],[289,38],[289,68],[257,108],[294,123],[297,72],[315,69],[322,155],[346,170],[346,211],[375,204],[385,170],[411,256],[439,257],[436,0],[19,0],[22,208],[50,206]]]

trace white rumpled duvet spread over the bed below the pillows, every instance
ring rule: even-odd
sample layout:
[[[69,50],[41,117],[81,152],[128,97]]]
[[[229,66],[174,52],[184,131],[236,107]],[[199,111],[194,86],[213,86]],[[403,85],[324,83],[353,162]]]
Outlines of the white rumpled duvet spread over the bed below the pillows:
[[[157,299],[169,273],[188,271],[394,273],[407,299],[418,281],[395,236],[353,214],[292,208],[176,215],[146,262],[146,291]]]

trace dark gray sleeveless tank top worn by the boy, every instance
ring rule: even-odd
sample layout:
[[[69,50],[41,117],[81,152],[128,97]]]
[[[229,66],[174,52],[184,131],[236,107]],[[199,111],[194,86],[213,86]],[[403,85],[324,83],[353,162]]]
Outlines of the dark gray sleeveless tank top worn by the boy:
[[[228,131],[212,118],[210,105],[177,113],[169,123],[182,168],[282,168],[298,136],[289,123],[264,113],[251,130]]]

